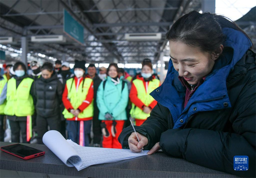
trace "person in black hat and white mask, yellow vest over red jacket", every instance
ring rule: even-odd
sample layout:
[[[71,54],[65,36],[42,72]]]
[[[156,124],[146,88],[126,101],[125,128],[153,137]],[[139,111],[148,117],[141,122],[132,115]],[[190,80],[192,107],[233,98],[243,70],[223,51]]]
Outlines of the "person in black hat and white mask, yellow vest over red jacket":
[[[75,76],[67,80],[62,102],[68,139],[89,146],[93,117],[93,80],[85,75],[85,61],[75,61]]]

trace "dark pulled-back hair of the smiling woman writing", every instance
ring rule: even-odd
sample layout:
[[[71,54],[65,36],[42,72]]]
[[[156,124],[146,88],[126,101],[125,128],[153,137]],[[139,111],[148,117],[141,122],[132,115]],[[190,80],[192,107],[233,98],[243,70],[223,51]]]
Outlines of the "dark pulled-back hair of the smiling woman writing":
[[[221,52],[220,44],[226,38],[222,33],[222,28],[225,27],[233,28],[247,36],[233,21],[224,16],[191,11],[172,25],[166,33],[166,39],[180,41],[189,46],[200,47],[202,51],[217,54]]]

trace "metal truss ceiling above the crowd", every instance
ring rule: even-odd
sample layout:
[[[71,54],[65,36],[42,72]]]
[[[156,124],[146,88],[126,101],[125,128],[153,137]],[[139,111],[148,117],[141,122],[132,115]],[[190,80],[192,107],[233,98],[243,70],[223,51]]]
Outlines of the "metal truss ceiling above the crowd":
[[[57,59],[88,62],[137,63],[144,58],[157,61],[173,21],[191,10],[200,10],[200,0],[1,0],[0,36],[12,36],[20,49],[21,37],[27,51]],[[65,35],[63,9],[84,27],[84,45],[67,37],[65,43],[35,43],[34,35]],[[162,34],[161,40],[127,41],[125,33]]]

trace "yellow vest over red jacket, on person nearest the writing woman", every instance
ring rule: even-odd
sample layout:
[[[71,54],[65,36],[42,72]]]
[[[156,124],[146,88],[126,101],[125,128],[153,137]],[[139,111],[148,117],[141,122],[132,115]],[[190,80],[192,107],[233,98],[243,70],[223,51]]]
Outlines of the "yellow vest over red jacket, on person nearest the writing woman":
[[[159,87],[160,81],[158,79],[153,79],[152,81],[148,82],[147,91],[144,87],[143,81],[140,79],[135,79],[132,81],[134,86],[137,89],[137,96],[142,101],[142,103],[145,104],[145,106],[148,106],[154,101],[154,98],[150,96],[149,94]],[[132,103],[132,109],[130,111],[130,114],[133,118],[136,119],[146,119],[150,116],[150,114],[147,114],[143,112],[139,107],[137,107],[135,104]]]

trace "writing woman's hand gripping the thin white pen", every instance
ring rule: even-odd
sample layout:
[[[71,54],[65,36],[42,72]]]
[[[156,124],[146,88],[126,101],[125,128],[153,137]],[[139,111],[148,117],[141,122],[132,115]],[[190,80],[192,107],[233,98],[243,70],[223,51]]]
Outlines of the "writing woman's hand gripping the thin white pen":
[[[132,152],[141,152],[141,148],[148,144],[148,138],[144,135],[137,132],[137,135],[140,139],[138,142],[135,132],[132,132],[130,137],[128,138],[129,148]]]

